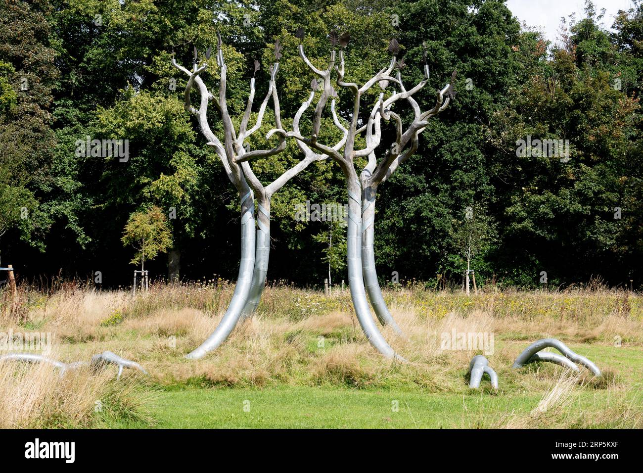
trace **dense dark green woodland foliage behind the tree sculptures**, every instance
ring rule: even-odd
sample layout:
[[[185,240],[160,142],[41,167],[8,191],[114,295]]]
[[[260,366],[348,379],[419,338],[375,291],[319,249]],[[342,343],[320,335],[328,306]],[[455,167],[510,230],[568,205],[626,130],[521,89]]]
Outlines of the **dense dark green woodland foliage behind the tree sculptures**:
[[[489,229],[472,258],[478,283],[496,274],[506,284],[536,286],[546,271],[550,284],[601,276],[638,286],[643,6],[637,1],[619,14],[613,33],[600,19],[588,3],[584,19],[568,22],[562,46],[553,48],[521,30],[498,0],[0,0],[3,261],[26,277],[100,270],[105,286],[127,284],[131,255],[120,243],[122,228],[133,212],[157,206],[170,218],[183,277],[234,277],[236,192],[183,109],[185,77],[170,64],[173,53],[189,65],[194,48],[201,60],[210,50],[203,79],[216,93],[219,33],[235,122],[251,77],[255,102],[266,93],[277,53],[282,119],[291,125],[314,79],[299,44],[319,67],[333,47],[344,50],[347,80],[358,84],[388,64],[390,44],[407,88],[422,80],[426,60],[430,81],[415,96],[423,110],[457,71],[448,109],[431,119],[415,156],[379,187],[382,275],[428,281],[442,274],[459,282],[466,261],[458,241],[471,207],[484,209]],[[374,88],[363,97],[362,118],[378,94]],[[342,120],[350,118],[349,100],[340,88]],[[410,123],[406,104],[395,111]],[[213,106],[210,122],[221,131]],[[273,124],[268,111],[249,140],[253,149],[266,145]],[[129,159],[77,156],[77,140],[87,135],[129,140]],[[570,159],[517,156],[517,140],[528,136],[569,140]],[[338,137],[325,113],[320,141]],[[393,138],[394,127],[385,124],[383,147]],[[285,153],[253,169],[267,183],[300,158],[289,142]],[[322,161],[275,194],[269,279],[320,284],[327,277],[315,238],[324,227],[295,221],[294,209],[306,200],[344,203],[344,188],[338,165]],[[150,263],[150,274],[166,272],[160,258]]]

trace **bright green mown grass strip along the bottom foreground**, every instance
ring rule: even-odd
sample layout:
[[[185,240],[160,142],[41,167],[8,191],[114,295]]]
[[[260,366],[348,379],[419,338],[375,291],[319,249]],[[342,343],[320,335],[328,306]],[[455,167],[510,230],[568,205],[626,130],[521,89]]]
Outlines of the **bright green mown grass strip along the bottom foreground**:
[[[152,406],[161,428],[476,427],[514,409],[527,413],[538,396],[423,394],[327,387],[183,389]],[[397,405],[397,409],[395,406]]]

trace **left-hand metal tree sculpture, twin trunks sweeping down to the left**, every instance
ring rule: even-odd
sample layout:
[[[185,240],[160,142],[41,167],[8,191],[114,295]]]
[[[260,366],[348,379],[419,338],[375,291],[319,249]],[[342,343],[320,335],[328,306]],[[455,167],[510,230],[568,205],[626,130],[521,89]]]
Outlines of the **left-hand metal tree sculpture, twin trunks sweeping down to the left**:
[[[224,342],[228,335],[230,335],[237,322],[239,322],[239,319],[250,315],[257,308],[261,298],[261,293],[266,284],[266,273],[270,252],[270,199],[277,190],[281,189],[285,183],[291,180],[299,172],[303,171],[303,169],[305,169],[309,164],[316,160],[327,158],[327,154],[314,153],[311,149],[305,147],[305,145],[300,145],[300,150],[302,150],[302,153],[304,154],[302,161],[285,171],[269,185],[264,186],[261,181],[258,180],[249,165],[249,161],[281,153],[286,147],[286,131],[282,128],[281,124],[279,98],[275,84],[276,73],[279,69],[278,61],[281,57],[281,46],[277,41],[275,44],[275,63],[271,67],[269,88],[266,98],[264,98],[264,101],[258,110],[257,122],[251,129],[248,129],[253,100],[255,97],[255,78],[253,77],[250,80],[248,104],[240,122],[238,132],[236,132],[233,127],[230,114],[228,113],[228,108],[226,106],[226,64],[221,46],[221,37],[219,36],[217,65],[219,66],[221,79],[219,80],[218,101],[208,91],[203,79],[199,77],[199,75],[206,70],[207,64],[197,66],[198,55],[196,48],[194,52],[192,72],[188,71],[183,66],[180,66],[176,62],[176,59],[172,59],[172,65],[174,65],[178,70],[183,71],[189,78],[185,88],[185,109],[197,117],[197,121],[201,127],[201,132],[208,140],[208,145],[215,148],[215,151],[228,174],[228,178],[230,178],[230,181],[239,191],[241,201],[241,261],[235,292],[233,293],[228,310],[226,310],[219,326],[217,326],[212,335],[210,335],[210,337],[208,337],[208,339],[203,342],[199,348],[187,355],[188,358],[201,358],[206,355],[206,353],[216,349],[222,342]],[[210,50],[206,53],[206,59],[209,58]],[[257,73],[258,69],[259,63],[255,60],[255,73]],[[194,84],[197,84],[201,95],[201,104],[199,109],[195,109],[190,104],[190,91]],[[311,104],[313,97],[314,90],[312,91],[309,100],[302,104],[302,107],[300,107],[299,111],[295,115],[294,127],[298,127],[298,122],[305,109],[307,109]],[[266,138],[271,138],[273,134],[276,134],[279,138],[279,142],[272,149],[246,151],[244,140],[260,128],[267,103],[270,98],[273,99],[276,127],[266,135]],[[224,144],[222,144],[215,136],[208,124],[207,110],[210,100],[213,100],[221,112]],[[334,113],[333,115],[335,124],[341,129],[342,127],[338,117]],[[341,149],[346,139],[347,133],[344,133],[340,142],[334,145],[331,149],[334,151]],[[254,196],[253,191],[255,192]],[[255,198],[257,199],[258,209],[256,235]]]

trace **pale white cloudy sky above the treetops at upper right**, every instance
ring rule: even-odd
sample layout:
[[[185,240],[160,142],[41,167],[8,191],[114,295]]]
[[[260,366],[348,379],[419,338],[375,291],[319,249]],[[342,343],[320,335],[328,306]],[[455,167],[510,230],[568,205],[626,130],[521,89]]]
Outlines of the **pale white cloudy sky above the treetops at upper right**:
[[[555,42],[560,29],[561,17],[576,13],[576,19],[584,17],[584,0],[508,0],[507,6],[520,23],[536,26],[545,32],[549,41]],[[605,28],[610,28],[619,10],[628,10],[633,6],[631,0],[593,0],[596,12],[605,8],[602,19]],[[611,28],[610,28],[611,29]]]

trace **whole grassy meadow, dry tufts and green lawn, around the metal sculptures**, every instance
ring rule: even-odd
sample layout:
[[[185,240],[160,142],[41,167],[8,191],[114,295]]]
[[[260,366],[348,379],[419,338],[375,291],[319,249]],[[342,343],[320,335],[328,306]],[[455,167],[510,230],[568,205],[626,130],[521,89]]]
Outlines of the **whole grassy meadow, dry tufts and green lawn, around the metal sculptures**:
[[[67,387],[50,391],[67,394],[44,389],[33,401],[36,407],[11,425],[642,427],[643,312],[634,293],[509,290],[467,297],[419,286],[386,290],[408,335],[383,329],[410,361],[400,365],[370,347],[348,291],[325,297],[277,284],[266,289],[257,315],[240,324],[226,344],[203,360],[186,360],[220,320],[232,290],[225,281],[154,285],[135,297],[79,286],[50,293],[23,288],[27,317],[3,311],[0,331],[50,332],[57,357],[66,362],[109,349],[140,362],[151,375],[126,373],[117,382],[110,377],[114,371],[89,373],[93,389],[65,377]],[[487,358],[500,378],[498,393],[487,380],[481,391],[467,387],[469,360],[482,351],[444,350],[442,334],[453,330],[493,334]],[[543,337],[563,340],[596,362],[604,376],[593,379],[583,371],[570,380],[551,364],[511,369],[520,351]],[[34,367],[3,365],[5,384],[13,389],[3,391],[3,403],[20,403],[29,385],[24,376]],[[51,373],[46,366],[37,370]],[[98,382],[96,376],[105,379]],[[82,409],[66,402],[71,398],[82,399]],[[103,407],[98,413],[96,400]]]

